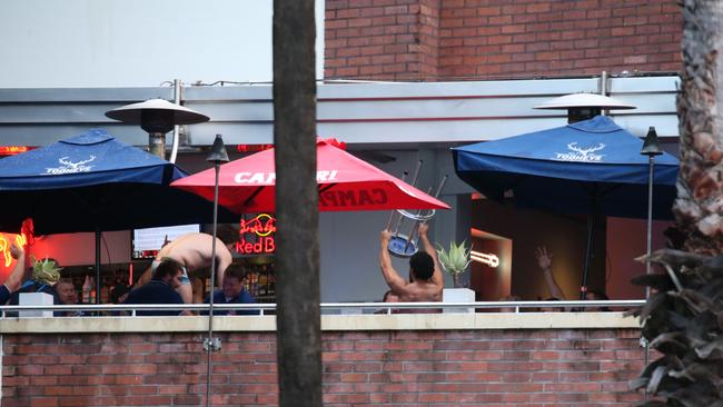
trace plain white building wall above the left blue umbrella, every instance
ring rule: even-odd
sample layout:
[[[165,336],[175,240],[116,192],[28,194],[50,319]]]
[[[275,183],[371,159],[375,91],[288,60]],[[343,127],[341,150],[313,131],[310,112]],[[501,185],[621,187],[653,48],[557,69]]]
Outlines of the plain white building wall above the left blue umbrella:
[[[273,0],[3,0],[0,87],[270,81],[271,17]]]

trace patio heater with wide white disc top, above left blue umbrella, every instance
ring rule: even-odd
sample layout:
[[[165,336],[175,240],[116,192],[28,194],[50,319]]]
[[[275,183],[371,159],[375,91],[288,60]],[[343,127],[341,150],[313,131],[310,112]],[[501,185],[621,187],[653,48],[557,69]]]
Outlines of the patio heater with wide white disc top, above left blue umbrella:
[[[149,99],[139,103],[122,106],[108,110],[106,116],[129,125],[140,125],[148,131],[148,150],[166,159],[166,133],[174,126],[196,125],[209,120],[209,117],[164,99]]]

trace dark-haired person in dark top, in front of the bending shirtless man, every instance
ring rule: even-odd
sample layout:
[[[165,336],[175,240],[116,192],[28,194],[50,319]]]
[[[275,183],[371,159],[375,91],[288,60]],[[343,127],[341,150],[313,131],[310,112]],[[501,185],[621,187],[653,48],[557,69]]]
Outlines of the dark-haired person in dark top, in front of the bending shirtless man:
[[[184,304],[176,290],[181,284],[184,266],[174,259],[162,258],[153,271],[153,278],[142,287],[130,291],[125,304]],[[191,315],[179,310],[138,310],[139,316]]]

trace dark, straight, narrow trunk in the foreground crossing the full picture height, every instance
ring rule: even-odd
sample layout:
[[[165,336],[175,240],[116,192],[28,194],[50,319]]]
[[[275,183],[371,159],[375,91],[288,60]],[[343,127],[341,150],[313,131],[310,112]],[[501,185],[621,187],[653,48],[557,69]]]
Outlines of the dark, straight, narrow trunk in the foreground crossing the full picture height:
[[[279,406],[321,406],[314,0],[274,1]]]

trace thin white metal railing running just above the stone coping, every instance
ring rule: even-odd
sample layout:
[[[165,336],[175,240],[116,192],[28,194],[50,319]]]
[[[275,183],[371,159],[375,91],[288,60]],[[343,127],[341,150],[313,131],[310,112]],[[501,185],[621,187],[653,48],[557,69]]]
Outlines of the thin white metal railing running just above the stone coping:
[[[399,310],[459,310],[459,309],[483,309],[498,312],[524,312],[524,311],[568,311],[568,310],[598,310],[607,309],[634,309],[645,304],[644,299],[636,300],[575,300],[575,301],[475,301],[475,302],[323,302],[323,315],[350,315],[350,314],[395,314]],[[53,306],[0,306],[0,318],[17,318],[18,312],[87,312],[88,316],[131,316],[136,317],[137,311],[175,311],[184,310],[208,314],[208,304],[145,304],[145,305],[53,305]],[[215,304],[215,312],[225,311],[257,311],[260,316],[274,315],[276,304]],[[8,312],[11,312],[8,316]],[[121,315],[120,312],[123,312]],[[126,314],[127,312],[127,314]],[[216,316],[218,316],[216,314]],[[244,315],[248,316],[248,315]]]

